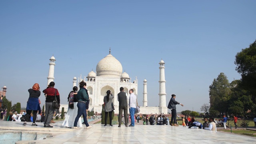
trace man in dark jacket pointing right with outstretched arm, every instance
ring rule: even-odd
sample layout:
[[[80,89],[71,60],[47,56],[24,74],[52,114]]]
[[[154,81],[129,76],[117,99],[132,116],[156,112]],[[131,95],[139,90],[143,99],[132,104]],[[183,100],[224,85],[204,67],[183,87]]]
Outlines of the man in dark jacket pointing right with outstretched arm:
[[[172,118],[171,118],[171,126],[178,126],[176,124],[176,104],[180,104],[179,102],[177,102],[175,100],[176,98],[176,95],[175,94],[172,94],[172,98],[170,99],[170,102],[168,104],[168,108],[171,109],[172,111]],[[180,104],[181,106],[184,106],[183,104]],[[174,122],[174,123],[172,123]]]

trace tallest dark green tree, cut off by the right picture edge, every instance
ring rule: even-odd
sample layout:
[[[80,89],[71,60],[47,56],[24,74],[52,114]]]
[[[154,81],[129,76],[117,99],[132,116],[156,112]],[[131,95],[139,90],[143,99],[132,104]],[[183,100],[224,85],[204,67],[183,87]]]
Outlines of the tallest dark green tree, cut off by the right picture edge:
[[[237,72],[242,77],[240,86],[248,90],[251,100],[256,104],[256,40],[250,44],[249,48],[242,49],[236,54],[235,64]]]

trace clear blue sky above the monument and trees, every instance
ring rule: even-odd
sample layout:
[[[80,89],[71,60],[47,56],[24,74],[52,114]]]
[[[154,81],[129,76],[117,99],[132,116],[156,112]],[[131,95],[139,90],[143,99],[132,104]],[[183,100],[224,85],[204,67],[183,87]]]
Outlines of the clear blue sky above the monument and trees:
[[[26,107],[28,89],[46,88],[54,54],[55,88],[61,104],[74,76],[87,76],[111,54],[132,81],[148,81],[148,106],[159,105],[159,62],[165,62],[166,103],[177,112],[209,102],[209,86],[220,72],[240,79],[235,55],[256,39],[255,0],[1,0],[0,87]],[[41,95],[41,101],[44,101]],[[43,102],[42,102],[43,103]],[[41,104],[42,106],[42,104]]]

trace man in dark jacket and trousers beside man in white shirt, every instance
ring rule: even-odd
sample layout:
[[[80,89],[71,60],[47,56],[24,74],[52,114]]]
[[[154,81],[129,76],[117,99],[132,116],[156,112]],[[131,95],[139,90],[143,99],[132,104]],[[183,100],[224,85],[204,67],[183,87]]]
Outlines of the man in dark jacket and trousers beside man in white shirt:
[[[128,124],[128,104],[127,104],[127,93],[124,92],[124,88],[120,87],[120,92],[117,94],[117,101],[119,102],[119,115],[118,115],[118,127],[122,124],[122,114],[124,110],[124,124],[127,127]]]

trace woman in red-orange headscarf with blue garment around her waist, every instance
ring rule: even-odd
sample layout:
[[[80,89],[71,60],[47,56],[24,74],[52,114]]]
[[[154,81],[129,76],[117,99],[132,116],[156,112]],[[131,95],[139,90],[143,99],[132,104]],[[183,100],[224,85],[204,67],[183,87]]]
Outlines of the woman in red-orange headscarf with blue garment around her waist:
[[[39,84],[36,83],[33,85],[32,88],[28,89],[29,92],[29,98],[27,102],[26,107],[26,115],[25,115],[25,122],[23,123],[23,126],[26,126],[27,122],[29,122],[29,117],[33,111],[33,120],[32,120],[32,126],[37,126],[36,124],[36,114],[37,111],[41,113],[40,103],[39,103],[39,96],[41,94]]]

